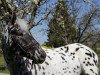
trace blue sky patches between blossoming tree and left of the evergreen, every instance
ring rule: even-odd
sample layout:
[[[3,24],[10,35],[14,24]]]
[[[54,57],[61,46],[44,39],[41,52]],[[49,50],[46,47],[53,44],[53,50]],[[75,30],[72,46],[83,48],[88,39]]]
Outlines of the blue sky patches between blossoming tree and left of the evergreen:
[[[49,6],[54,7],[54,4],[57,2],[57,0],[50,0],[50,2],[48,2],[48,4],[45,4],[44,6],[42,6],[41,8],[43,8],[44,10],[46,8],[48,8]],[[44,11],[43,10],[43,11]],[[43,17],[43,15],[39,15],[37,16],[38,18],[35,19],[35,22],[38,22],[41,17]],[[48,23],[47,21],[44,21],[42,25],[38,25],[35,26],[31,29],[31,33],[33,35],[33,37],[42,45],[44,44],[44,42],[47,42],[47,32],[46,30],[48,29]]]

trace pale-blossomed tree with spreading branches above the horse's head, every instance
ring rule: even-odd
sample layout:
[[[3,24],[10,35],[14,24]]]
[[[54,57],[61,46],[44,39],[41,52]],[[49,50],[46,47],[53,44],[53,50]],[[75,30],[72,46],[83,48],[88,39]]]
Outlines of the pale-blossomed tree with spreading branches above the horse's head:
[[[39,22],[34,22],[40,7],[48,1],[49,0],[0,0],[0,16],[2,19],[4,19],[4,17],[8,19],[8,15],[11,16],[13,13],[16,13],[17,17],[24,19],[28,16],[28,23],[31,29],[46,19],[50,14],[51,10],[49,9],[44,13],[44,17],[41,18]]]

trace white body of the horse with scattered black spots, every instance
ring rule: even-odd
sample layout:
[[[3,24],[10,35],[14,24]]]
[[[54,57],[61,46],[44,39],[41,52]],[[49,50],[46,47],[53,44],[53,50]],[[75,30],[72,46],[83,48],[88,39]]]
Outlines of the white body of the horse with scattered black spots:
[[[46,60],[42,64],[30,65],[33,75],[99,75],[98,56],[89,47],[80,43],[54,49],[45,49]]]

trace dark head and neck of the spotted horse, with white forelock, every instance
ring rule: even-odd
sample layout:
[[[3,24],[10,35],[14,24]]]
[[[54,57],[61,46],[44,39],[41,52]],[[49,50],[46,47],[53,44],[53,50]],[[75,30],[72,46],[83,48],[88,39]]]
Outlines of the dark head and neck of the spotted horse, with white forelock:
[[[15,15],[11,21],[2,23],[1,42],[7,68],[10,75],[32,75],[23,57],[40,64],[45,61],[46,53],[30,33],[25,20]]]

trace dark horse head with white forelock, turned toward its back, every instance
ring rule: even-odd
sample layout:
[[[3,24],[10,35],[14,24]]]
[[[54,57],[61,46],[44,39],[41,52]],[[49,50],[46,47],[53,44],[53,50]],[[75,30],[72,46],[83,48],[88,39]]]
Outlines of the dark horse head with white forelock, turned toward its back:
[[[20,18],[16,18],[14,25],[8,27],[8,33],[16,46],[15,52],[18,49],[17,52],[21,56],[33,60],[33,63],[42,63],[45,61],[46,53],[29,30],[27,22]]]

